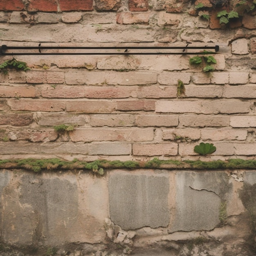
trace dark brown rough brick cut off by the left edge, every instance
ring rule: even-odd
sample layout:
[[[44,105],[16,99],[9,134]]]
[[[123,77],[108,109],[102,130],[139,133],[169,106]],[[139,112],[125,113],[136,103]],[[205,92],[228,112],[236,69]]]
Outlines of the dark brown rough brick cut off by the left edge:
[[[28,126],[33,121],[33,114],[0,114],[0,125]]]

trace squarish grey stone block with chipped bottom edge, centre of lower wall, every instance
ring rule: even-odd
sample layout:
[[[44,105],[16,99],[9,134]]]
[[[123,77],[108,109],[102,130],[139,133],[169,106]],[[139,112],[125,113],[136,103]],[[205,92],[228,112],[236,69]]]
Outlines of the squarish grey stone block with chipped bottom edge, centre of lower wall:
[[[121,229],[167,227],[168,173],[150,171],[110,173],[110,219]]]

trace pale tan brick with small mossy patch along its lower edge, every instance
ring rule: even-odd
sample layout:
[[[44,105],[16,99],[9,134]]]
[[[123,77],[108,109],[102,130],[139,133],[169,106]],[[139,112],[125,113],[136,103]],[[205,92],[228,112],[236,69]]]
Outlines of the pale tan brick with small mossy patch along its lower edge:
[[[201,132],[199,129],[168,129],[163,130],[162,139],[170,140],[196,140],[200,139]]]

